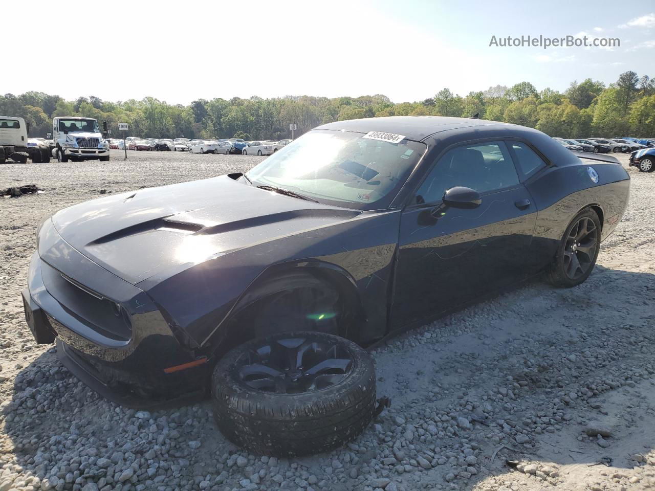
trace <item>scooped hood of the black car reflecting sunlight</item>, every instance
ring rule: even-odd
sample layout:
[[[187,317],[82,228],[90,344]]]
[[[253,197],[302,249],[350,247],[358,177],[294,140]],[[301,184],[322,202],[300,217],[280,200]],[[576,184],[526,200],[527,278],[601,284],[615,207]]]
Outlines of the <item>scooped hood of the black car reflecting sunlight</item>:
[[[52,215],[52,223],[77,251],[136,285],[359,214],[223,175],[76,204]]]

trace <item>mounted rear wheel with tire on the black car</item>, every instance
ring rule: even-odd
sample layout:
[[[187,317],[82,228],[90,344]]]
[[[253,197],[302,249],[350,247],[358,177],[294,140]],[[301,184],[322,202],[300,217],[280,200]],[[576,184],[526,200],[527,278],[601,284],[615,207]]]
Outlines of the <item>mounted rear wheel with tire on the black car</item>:
[[[601,245],[601,221],[593,209],[578,213],[567,227],[548,270],[548,280],[558,287],[584,283],[593,270]]]

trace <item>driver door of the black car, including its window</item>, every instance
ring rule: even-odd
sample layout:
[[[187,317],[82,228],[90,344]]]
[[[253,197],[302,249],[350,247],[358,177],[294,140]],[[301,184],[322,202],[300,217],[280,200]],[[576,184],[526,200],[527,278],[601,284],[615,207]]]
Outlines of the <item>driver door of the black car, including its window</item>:
[[[447,189],[479,192],[481,204],[443,204]],[[391,328],[453,310],[532,271],[536,207],[503,141],[447,151],[401,217]]]

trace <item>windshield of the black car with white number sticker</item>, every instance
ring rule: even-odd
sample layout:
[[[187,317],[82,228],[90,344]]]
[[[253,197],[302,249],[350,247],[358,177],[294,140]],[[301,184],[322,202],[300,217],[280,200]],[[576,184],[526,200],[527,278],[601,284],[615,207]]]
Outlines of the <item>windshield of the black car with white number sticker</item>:
[[[255,166],[254,185],[298,192],[349,208],[386,208],[426,149],[424,143],[400,143],[362,133],[314,130],[291,141]]]

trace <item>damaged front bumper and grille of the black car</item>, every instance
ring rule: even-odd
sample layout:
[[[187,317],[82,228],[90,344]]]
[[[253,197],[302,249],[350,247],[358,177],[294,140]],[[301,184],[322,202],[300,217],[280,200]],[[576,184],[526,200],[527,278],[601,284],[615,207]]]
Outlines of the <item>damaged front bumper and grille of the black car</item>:
[[[89,284],[79,276],[73,280],[60,271],[62,264],[57,264],[58,269],[34,253],[22,297],[36,342],[49,344],[56,338],[58,357],[71,373],[103,397],[126,407],[159,407],[204,397],[209,363],[179,344],[147,295],[57,239],[49,221],[44,228],[41,249],[52,246],[58,251],[46,257],[65,261],[69,275],[71,271],[84,273],[87,268],[86,273],[97,281]],[[52,244],[43,244],[43,234]],[[92,296],[98,285],[117,297],[127,293],[129,298],[100,300],[97,293]]]

